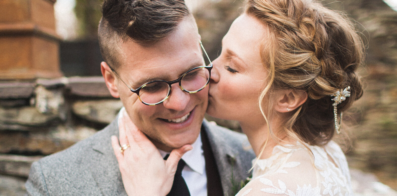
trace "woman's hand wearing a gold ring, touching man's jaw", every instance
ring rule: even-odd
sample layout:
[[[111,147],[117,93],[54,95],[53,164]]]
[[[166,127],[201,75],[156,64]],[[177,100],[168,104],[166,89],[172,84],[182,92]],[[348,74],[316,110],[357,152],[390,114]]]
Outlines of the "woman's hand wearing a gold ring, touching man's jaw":
[[[112,147],[119,163],[121,179],[129,196],[165,196],[170,192],[178,161],[192,149],[186,144],[172,150],[165,161],[156,146],[123,110],[119,118],[119,140],[112,136]],[[121,145],[129,145],[123,152]]]

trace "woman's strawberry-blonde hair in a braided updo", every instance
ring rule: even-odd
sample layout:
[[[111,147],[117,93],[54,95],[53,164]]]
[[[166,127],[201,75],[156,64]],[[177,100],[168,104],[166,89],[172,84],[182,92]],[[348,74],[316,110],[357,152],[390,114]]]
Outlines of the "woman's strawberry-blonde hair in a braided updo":
[[[307,101],[286,120],[287,135],[322,146],[334,135],[331,94],[350,86],[338,113],[361,97],[356,73],[364,62],[362,40],[347,17],[311,0],[248,0],[245,12],[268,29],[261,56],[269,71],[260,96],[274,89],[304,90]]]

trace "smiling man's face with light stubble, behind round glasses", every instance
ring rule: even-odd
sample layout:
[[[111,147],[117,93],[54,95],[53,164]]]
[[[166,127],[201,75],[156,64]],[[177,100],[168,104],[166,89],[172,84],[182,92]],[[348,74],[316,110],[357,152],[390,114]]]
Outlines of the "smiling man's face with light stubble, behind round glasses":
[[[199,39],[194,19],[185,17],[174,33],[151,46],[123,42],[119,55],[121,66],[116,71],[134,89],[148,81],[178,79],[189,69],[204,65]],[[147,106],[114,73],[111,74],[114,79],[105,77],[105,80],[116,89],[112,94],[120,97],[132,121],[154,145],[170,151],[195,142],[207,108],[208,87],[189,94],[182,91],[179,84],[173,84],[167,100]]]

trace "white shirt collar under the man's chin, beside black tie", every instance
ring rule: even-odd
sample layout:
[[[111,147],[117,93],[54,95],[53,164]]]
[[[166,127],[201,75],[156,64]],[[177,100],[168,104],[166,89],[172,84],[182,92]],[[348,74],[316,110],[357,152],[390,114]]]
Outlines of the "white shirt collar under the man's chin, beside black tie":
[[[198,135],[197,140],[192,144],[193,149],[187,151],[182,159],[185,161],[186,165],[190,167],[193,171],[202,175],[205,169],[205,159],[204,151],[202,150],[201,134]],[[161,156],[164,158],[169,152],[160,151]]]

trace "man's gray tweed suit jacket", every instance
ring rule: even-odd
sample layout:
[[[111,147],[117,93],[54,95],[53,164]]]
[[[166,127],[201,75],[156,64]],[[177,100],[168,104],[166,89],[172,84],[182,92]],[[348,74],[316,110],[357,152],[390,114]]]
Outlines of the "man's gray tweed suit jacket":
[[[117,119],[117,118],[116,118]],[[202,123],[225,195],[247,178],[254,154],[247,137],[223,127]],[[110,136],[118,135],[114,120],[102,131],[33,163],[25,186],[29,196],[126,196]],[[233,178],[233,180],[232,180]]]

